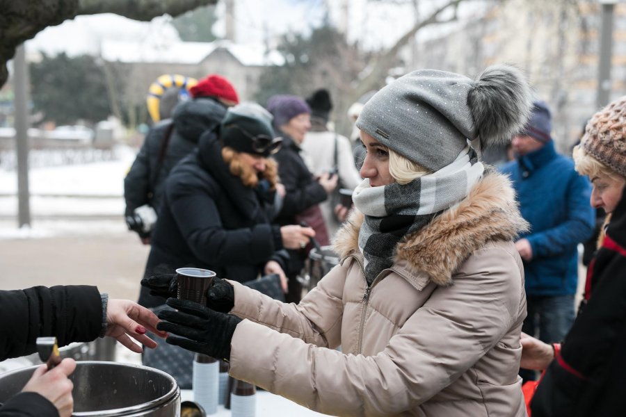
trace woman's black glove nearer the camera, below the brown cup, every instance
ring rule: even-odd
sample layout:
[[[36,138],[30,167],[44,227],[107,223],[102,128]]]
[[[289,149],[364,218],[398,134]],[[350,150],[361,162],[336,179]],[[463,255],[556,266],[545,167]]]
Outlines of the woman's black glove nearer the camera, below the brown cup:
[[[182,337],[168,336],[166,342],[183,349],[230,360],[230,341],[241,318],[213,311],[197,302],[169,298],[168,306],[178,311],[163,310],[157,329]]]

